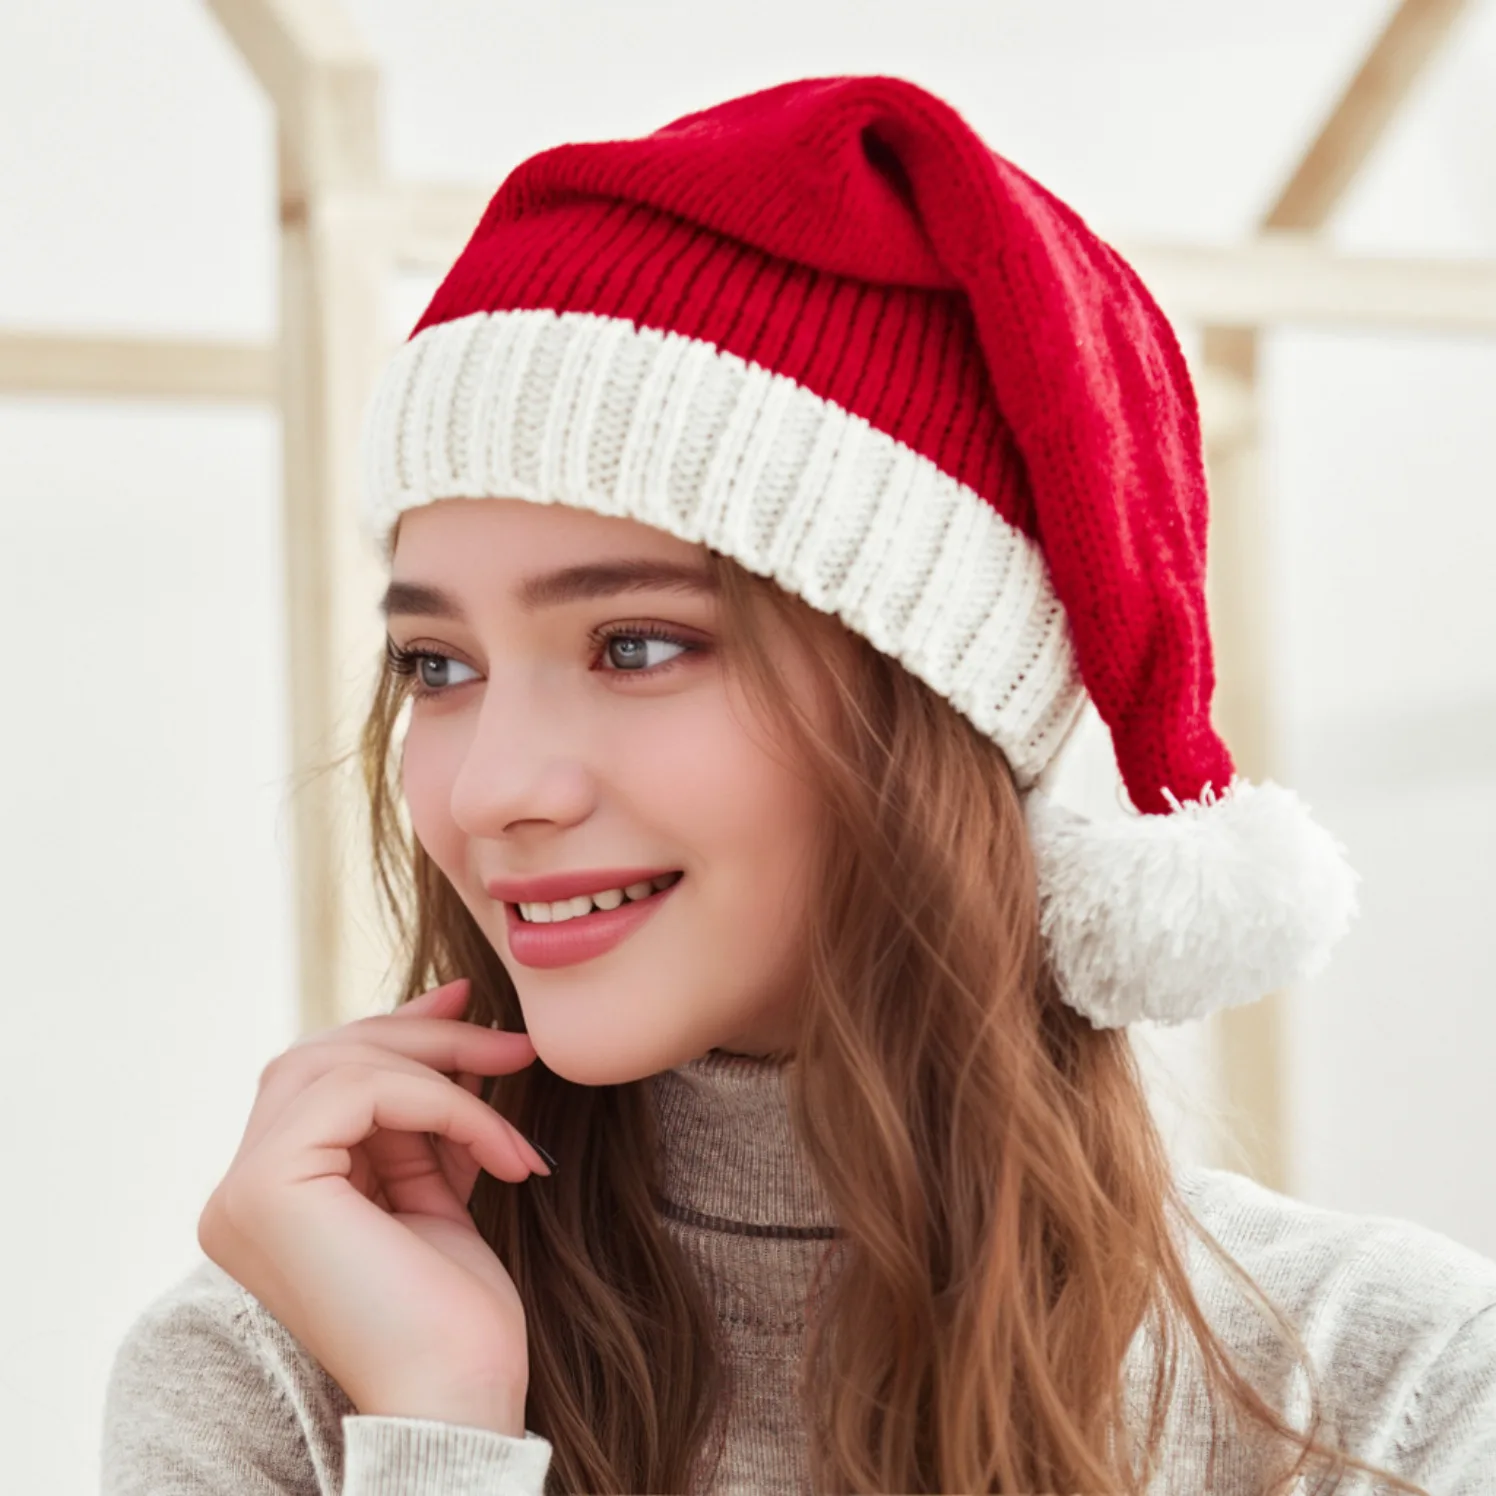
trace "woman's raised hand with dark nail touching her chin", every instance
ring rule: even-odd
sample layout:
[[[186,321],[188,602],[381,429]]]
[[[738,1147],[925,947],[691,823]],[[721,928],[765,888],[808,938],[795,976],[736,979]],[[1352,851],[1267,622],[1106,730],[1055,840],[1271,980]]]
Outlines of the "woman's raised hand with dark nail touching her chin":
[[[455,1020],[467,978],[293,1044],[260,1073],[197,1242],[362,1414],[525,1432],[525,1312],[467,1212],[479,1170],[551,1170],[477,1095],[536,1052]]]

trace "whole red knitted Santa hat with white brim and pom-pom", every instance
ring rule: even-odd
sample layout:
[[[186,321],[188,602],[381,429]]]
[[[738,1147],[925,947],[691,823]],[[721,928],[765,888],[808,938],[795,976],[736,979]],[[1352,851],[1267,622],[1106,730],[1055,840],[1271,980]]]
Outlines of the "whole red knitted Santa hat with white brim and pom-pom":
[[[657,525],[841,618],[1001,745],[1098,1026],[1316,971],[1342,850],[1210,724],[1189,375],[1126,263],[947,103],[820,78],[500,187],[370,419],[368,533],[437,498]],[[1035,788],[1086,697],[1138,815]]]

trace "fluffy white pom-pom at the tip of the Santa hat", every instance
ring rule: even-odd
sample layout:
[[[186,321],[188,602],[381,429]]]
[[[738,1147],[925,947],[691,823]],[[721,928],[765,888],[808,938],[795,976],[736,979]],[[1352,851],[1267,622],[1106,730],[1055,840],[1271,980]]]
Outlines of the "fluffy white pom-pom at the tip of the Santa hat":
[[[1234,779],[1168,815],[1089,821],[1040,790],[1040,925],[1097,1028],[1183,1023],[1318,972],[1357,911],[1345,848],[1282,785]]]

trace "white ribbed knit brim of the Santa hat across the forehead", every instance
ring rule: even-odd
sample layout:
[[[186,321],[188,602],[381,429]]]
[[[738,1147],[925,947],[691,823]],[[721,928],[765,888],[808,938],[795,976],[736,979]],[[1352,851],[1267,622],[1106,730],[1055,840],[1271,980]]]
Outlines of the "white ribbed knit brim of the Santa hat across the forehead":
[[[1026,788],[1085,687],[1038,548],[929,458],[714,344],[592,313],[473,313],[384,371],[365,534],[438,498],[637,519],[772,577],[992,738]]]

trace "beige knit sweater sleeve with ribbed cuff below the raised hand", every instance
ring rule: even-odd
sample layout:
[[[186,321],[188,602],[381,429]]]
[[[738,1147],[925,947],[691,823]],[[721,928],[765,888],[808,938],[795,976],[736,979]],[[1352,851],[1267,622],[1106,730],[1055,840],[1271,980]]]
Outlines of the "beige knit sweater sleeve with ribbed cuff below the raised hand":
[[[534,1433],[358,1414],[211,1264],[126,1333],[100,1454],[103,1496],[542,1496],[551,1463]]]

